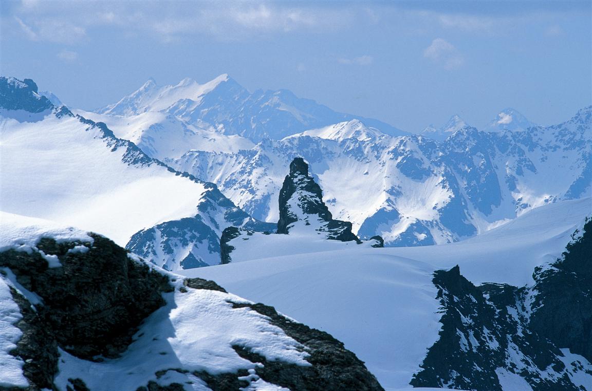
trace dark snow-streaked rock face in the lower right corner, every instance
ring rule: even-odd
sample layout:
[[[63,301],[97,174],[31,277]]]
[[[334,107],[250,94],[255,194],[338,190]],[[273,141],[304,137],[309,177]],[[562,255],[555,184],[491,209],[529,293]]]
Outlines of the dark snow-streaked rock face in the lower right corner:
[[[582,390],[590,377],[578,376],[592,374],[591,228],[537,268],[532,287],[475,287],[458,266],[436,272],[442,330],[411,385],[501,391],[519,379],[535,391]]]

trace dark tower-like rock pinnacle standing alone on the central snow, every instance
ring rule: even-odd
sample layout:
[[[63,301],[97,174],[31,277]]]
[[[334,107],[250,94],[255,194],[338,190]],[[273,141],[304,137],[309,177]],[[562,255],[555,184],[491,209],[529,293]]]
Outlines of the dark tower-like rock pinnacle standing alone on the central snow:
[[[323,191],[308,175],[308,164],[301,157],[290,163],[290,172],[279,193],[278,234],[288,234],[297,222],[327,232],[327,239],[360,243],[352,232],[352,223],[333,219],[323,202]]]

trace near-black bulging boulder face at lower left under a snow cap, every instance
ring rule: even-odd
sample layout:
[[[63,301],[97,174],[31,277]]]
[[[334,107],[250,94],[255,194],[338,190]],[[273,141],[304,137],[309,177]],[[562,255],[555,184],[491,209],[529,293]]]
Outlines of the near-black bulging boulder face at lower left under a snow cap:
[[[68,353],[92,359],[117,357],[131,342],[140,322],[165,304],[168,278],[133,261],[111,240],[92,234],[86,252],[75,245],[44,238],[37,248],[56,255],[62,267],[49,269],[40,253],[9,250],[0,253],[0,266],[9,267],[17,281],[43,299],[39,318]]]

